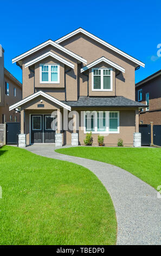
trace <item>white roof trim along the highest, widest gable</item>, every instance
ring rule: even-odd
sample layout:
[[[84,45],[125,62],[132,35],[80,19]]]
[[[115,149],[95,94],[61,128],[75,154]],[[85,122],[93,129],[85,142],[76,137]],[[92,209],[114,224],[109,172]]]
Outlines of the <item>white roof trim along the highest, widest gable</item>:
[[[71,36],[74,36],[74,35],[76,35],[76,34],[78,34],[80,32],[85,34],[85,35],[87,35],[87,36],[89,36],[90,38],[94,39],[95,41],[100,42],[100,44],[105,45],[106,47],[108,47],[111,50],[119,53],[120,55],[124,56],[125,58],[130,59],[132,62],[138,64],[139,66],[143,66],[143,68],[145,68],[145,64],[143,62],[140,62],[140,60],[138,60],[136,58],[133,58],[132,56],[130,56],[127,53],[119,50],[118,48],[114,47],[113,45],[108,44],[108,42],[105,42],[104,40],[98,38],[97,36],[95,36],[95,35],[87,32],[87,31],[85,31],[85,29],[83,29],[83,28],[78,28],[78,29],[76,29],[75,31],[73,31],[73,32],[71,32],[69,34],[67,34],[65,36],[62,36],[62,38],[57,39],[55,42],[57,42],[57,44],[60,44],[60,42],[66,40],[66,39],[70,38]]]

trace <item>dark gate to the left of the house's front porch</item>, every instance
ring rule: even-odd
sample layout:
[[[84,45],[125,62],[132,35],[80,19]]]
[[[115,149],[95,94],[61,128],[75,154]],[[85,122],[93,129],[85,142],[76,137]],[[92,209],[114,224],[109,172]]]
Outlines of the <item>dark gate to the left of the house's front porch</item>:
[[[20,133],[20,123],[6,123],[7,126],[7,144],[17,144],[18,143],[18,134]]]

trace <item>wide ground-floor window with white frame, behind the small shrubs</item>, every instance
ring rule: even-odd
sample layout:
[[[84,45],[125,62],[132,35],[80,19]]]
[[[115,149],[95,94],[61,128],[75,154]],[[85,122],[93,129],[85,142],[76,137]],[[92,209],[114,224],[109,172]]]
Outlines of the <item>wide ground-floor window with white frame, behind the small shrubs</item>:
[[[119,133],[119,111],[85,112],[85,133]]]

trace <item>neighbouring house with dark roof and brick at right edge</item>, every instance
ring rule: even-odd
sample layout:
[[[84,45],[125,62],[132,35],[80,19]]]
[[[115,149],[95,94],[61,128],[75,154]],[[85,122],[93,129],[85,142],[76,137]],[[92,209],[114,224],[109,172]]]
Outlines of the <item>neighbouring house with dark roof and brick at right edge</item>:
[[[140,124],[161,125],[161,70],[136,83],[136,101],[148,105],[140,109]]]

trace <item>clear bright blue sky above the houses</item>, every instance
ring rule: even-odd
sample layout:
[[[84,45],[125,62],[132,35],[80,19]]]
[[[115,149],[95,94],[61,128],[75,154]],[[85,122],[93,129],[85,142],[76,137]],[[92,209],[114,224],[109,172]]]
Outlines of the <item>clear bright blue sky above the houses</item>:
[[[78,27],[99,36],[145,63],[136,82],[161,69],[161,1],[0,1],[0,44],[5,68],[22,81],[22,71],[11,59],[42,42]],[[83,56],[85,58],[85,56]]]

